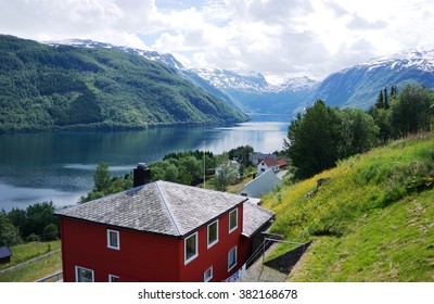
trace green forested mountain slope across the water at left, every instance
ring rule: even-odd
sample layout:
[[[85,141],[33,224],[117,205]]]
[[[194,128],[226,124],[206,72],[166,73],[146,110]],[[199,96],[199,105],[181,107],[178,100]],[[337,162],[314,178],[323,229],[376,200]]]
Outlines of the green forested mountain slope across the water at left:
[[[116,48],[50,46],[1,35],[0,132],[247,119],[161,63],[159,54],[150,54],[154,60]]]

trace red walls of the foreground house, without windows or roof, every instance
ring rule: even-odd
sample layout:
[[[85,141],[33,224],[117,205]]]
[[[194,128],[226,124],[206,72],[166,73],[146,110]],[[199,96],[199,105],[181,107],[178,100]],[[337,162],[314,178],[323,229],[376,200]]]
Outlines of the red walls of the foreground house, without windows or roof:
[[[197,231],[199,256],[184,265],[184,240],[119,229],[62,217],[64,281],[75,281],[75,266],[94,270],[95,281],[108,275],[119,281],[203,281],[213,266],[212,281],[221,281],[237,271],[251,254],[251,241],[241,236],[243,205],[238,207],[238,228],[229,233],[229,213],[219,218],[218,243],[207,249],[207,225]],[[106,229],[119,231],[120,250],[107,248]],[[190,236],[190,235],[189,235]],[[187,236],[187,237],[189,237]],[[228,271],[228,253],[238,246],[237,266]]]

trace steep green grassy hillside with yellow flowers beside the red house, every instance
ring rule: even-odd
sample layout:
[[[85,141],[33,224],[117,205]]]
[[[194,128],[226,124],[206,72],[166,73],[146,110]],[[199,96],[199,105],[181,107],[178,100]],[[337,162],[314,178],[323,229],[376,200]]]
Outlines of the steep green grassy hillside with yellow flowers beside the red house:
[[[326,182],[318,192],[317,180]],[[294,281],[434,281],[434,135],[399,140],[266,198],[272,231],[314,244]]]

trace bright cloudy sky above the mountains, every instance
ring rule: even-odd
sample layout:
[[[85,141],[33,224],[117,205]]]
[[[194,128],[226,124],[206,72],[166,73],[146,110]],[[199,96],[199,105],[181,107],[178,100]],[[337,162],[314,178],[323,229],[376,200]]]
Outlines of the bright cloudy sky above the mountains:
[[[434,46],[433,0],[0,0],[0,33],[93,39],[271,83]]]

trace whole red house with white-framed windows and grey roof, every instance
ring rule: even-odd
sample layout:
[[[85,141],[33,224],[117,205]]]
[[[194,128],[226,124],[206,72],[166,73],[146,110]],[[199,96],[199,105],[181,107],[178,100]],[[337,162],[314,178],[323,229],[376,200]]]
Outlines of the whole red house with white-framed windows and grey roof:
[[[221,281],[273,213],[245,197],[166,181],[56,213],[64,281]]]

